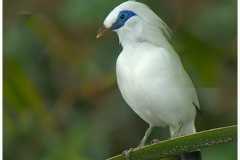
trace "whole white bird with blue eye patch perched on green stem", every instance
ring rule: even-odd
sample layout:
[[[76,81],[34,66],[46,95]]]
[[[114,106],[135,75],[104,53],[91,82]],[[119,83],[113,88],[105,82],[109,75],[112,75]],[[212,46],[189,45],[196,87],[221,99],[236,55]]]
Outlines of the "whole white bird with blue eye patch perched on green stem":
[[[121,94],[150,125],[139,147],[146,145],[155,126],[168,125],[171,137],[195,133],[194,119],[201,113],[199,101],[168,42],[171,31],[167,25],[145,4],[127,1],[109,13],[97,38],[109,31],[117,32],[123,47],[116,69]],[[196,152],[190,156],[201,159],[200,151]],[[183,155],[182,159],[191,158]]]

